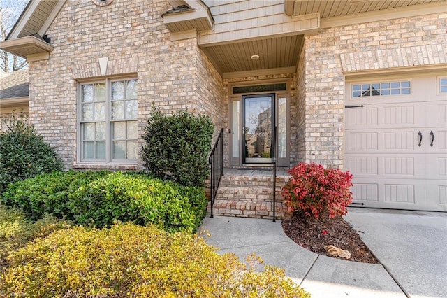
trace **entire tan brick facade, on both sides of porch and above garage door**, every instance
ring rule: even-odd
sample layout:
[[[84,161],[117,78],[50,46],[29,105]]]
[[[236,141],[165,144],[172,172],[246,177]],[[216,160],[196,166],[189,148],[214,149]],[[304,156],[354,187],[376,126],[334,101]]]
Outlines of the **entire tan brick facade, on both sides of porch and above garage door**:
[[[305,36],[302,48],[296,49],[296,73],[265,76],[260,71],[222,79],[196,38],[170,41],[161,17],[166,5],[129,0],[101,7],[67,1],[47,31],[54,45],[50,59],[29,64],[30,119],[68,167],[80,166],[78,82],[133,74],[138,76],[139,136],[152,103],[163,111],[205,112],[218,132],[228,129],[232,84],[288,79],[291,165],[316,162],[342,168],[345,72],[413,66],[409,62],[419,59],[417,65],[439,64],[447,52],[445,13],[406,17]],[[105,73],[100,59],[106,59]],[[228,163],[228,134],[225,143]]]

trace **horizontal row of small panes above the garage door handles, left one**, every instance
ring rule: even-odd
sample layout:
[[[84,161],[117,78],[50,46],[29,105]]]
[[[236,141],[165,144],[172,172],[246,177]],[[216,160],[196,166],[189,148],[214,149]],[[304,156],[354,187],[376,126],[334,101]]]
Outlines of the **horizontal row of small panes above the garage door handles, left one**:
[[[399,82],[353,84],[351,94],[352,97],[411,94],[411,82],[403,80]]]

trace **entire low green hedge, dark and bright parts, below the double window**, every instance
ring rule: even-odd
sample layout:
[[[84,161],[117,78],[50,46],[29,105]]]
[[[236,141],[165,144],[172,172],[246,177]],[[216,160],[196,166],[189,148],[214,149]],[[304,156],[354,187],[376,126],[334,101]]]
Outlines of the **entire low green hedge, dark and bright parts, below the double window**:
[[[32,220],[49,213],[81,225],[108,227],[119,220],[152,223],[170,232],[193,232],[207,204],[201,187],[108,171],[42,174],[10,185],[1,199]]]

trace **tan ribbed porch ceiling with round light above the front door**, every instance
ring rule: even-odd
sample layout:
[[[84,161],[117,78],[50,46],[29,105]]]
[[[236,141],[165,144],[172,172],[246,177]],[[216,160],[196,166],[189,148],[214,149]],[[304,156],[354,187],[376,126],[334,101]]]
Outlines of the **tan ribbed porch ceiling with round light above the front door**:
[[[202,47],[219,73],[296,67],[303,36],[282,36]],[[258,55],[258,59],[251,59]]]

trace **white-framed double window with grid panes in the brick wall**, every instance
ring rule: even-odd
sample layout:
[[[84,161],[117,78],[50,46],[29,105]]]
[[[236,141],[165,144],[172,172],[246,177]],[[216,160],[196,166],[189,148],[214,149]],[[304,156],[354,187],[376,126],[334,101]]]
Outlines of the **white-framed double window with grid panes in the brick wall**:
[[[137,79],[107,78],[78,86],[79,161],[137,162]]]

